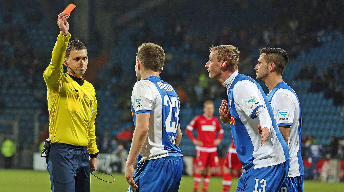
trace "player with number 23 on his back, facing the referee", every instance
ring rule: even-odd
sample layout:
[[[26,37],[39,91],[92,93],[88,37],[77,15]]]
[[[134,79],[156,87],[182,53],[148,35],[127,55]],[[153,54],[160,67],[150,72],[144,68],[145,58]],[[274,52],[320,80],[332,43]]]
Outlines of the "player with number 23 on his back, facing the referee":
[[[131,111],[135,124],[126,162],[128,192],[175,192],[179,189],[183,157],[178,145],[179,98],[172,86],[161,80],[165,52],[153,43],[143,43],[136,55]],[[134,174],[133,163],[138,158]]]

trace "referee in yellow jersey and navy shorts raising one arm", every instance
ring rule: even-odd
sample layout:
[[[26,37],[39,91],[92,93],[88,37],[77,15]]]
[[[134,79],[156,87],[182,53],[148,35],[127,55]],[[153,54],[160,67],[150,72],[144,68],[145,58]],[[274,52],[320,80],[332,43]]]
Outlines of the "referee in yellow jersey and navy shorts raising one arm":
[[[94,87],[84,80],[87,49],[78,40],[69,44],[71,34],[60,13],[57,37],[49,66],[43,77],[47,86],[49,139],[52,142],[46,159],[52,192],[90,191],[90,172],[97,168],[98,149],[94,122],[97,100]],[[67,72],[63,73],[63,65]]]

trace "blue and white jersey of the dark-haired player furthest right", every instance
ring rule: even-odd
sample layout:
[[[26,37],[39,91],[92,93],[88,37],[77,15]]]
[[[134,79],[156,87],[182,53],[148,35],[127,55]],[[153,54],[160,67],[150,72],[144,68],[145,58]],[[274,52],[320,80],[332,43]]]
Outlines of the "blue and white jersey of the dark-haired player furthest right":
[[[278,126],[290,126],[288,177],[304,175],[301,158],[301,109],[295,91],[284,81],[279,82],[267,95]]]

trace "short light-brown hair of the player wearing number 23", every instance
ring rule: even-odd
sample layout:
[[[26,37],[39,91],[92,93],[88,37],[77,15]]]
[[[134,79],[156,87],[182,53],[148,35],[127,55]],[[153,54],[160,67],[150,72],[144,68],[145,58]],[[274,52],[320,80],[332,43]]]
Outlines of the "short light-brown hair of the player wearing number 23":
[[[142,62],[146,69],[160,72],[165,62],[165,52],[159,45],[154,43],[143,43],[138,48],[136,60]]]

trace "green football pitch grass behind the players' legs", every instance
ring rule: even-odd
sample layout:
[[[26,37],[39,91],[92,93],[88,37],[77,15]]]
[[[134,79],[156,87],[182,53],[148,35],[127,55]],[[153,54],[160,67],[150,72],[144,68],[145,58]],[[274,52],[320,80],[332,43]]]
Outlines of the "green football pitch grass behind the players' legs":
[[[3,192],[49,192],[50,178],[48,172],[33,170],[0,169],[0,191]],[[112,180],[110,176],[96,173],[105,180]],[[106,183],[91,175],[92,192],[127,192],[128,183],[123,174],[113,174],[115,181]],[[230,192],[235,192],[238,178],[233,179]],[[222,192],[222,178],[212,177],[208,187],[208,192]],[[179,192],[192,192],[193,177],[183,176]],[[202,183],[200,183],[200,188]],[[343,192],[344,183],[321,183],[319,181],[304,181],[304,192]],[[198,191],[201,191],[199,189]]]

